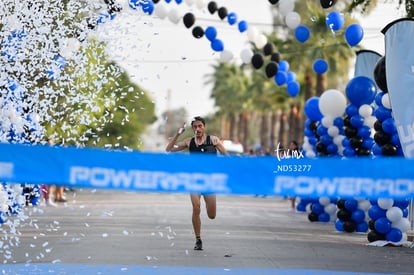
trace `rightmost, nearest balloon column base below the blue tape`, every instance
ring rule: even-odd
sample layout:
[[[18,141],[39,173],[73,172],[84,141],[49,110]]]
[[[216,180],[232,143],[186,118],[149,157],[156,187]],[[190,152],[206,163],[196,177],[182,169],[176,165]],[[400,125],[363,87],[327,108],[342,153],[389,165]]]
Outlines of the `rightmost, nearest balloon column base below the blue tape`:
[[[378,199],[368,210],[368,241],[401,242],[407,240],[409,200]]]

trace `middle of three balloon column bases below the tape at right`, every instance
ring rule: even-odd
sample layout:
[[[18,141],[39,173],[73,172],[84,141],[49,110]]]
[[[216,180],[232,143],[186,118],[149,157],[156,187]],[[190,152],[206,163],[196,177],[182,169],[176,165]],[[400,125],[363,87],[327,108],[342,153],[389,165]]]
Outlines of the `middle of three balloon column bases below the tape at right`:
[[[363,199],[339,199],[336,204],[338,208],[335,221],[336,230],[347,233],[367,232],[367,211],[370,205],[368,200]]]

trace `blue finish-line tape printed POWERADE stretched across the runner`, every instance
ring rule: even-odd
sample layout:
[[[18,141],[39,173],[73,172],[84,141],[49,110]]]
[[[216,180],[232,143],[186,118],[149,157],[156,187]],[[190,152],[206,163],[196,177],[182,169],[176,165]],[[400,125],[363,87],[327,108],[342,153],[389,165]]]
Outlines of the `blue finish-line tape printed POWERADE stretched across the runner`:
[[[150,192],[414,198],[414,160],[290,159],[0,144],[0,181]]]

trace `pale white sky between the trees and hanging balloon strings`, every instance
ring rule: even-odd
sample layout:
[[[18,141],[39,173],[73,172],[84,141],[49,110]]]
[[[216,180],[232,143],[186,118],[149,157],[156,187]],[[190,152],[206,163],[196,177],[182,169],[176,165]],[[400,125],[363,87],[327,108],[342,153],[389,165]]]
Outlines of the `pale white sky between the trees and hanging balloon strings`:
[[[285,0],[289,1],[289,0]],[[129,73],[131,80],[149,92],[156,106],[159,123],[165,121],[161,114],[166,110],[184,107],[188,118],[212,114],[214,101],[211,99],[211,84],[207,84],[212,66],[220,60],[220,53],[212,50],[205,37],[196,39],[182,21],[174,23],[168,17],[162,19],[143,14],[127,6],[127,1],[117,18],[100,27],[97,35],[108,43],[108,53]],[[167,4],[160,1],[169,14],[173,10],[184,15],[192,12],[195,25],[214,26],[226,50],[233,53],[233,62],[240,61],[240,52],[248,47],[247,33],[241,33],[236,25],[220,20],[217,13],[207,10],[208,1],[174,1]],[[237,14],[238,21],[245,20],[259,33],[271,31],[271,4],[267,0],[216,0],[218,7]],[[401,17],[393,1],[379,0],[379,5],[368,17],[361,19],[364,38],[361,45],[384,54],[384,37],[381,30],[390,22]],[[204,5],[202,5],[204,3]],[[200,5],[198,5],[200,4]],[[159,5],[159,4],[157,4]],[[338,5],[338,4],[337,4]],[[202,7],[202,8],[200,8]],[[329,10],[330,11],[330,10]],[[312,15],[309,15],[312,16]],[[358,18],[358,16],[357,16]],[[294,70],[294,68],[293,68]]]

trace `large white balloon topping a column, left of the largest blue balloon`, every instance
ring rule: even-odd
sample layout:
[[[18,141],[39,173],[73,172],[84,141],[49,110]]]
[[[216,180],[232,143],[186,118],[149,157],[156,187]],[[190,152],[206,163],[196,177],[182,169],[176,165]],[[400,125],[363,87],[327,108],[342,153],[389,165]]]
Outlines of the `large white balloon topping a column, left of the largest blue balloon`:
[[[319,98],[319,110],[325,116],[342,116],[346,109],[346,98],[338,90],[330,89],[322,93]]]

